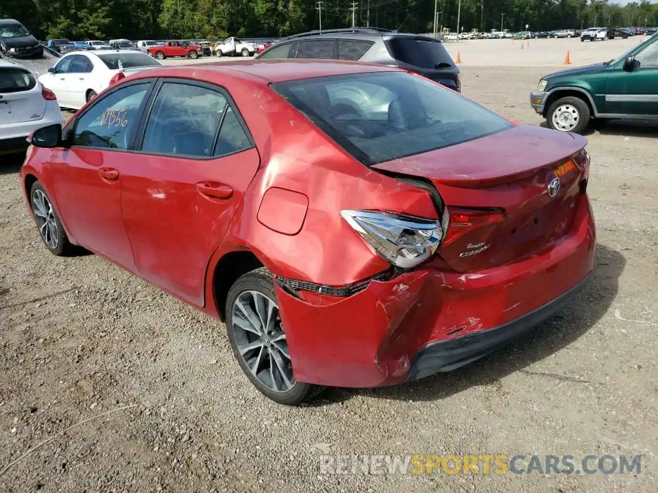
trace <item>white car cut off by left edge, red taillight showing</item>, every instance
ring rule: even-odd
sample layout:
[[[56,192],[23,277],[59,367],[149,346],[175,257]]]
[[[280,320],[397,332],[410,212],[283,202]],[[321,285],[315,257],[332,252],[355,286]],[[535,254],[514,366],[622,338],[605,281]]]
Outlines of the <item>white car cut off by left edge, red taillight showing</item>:
[[[30,133],[53,124],[64,125],[55,94],[24,66],[0,60],[0,151],[27,147]]]

